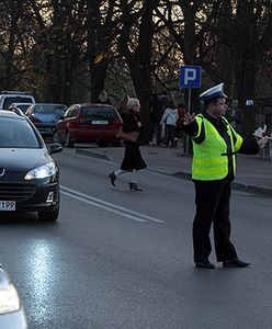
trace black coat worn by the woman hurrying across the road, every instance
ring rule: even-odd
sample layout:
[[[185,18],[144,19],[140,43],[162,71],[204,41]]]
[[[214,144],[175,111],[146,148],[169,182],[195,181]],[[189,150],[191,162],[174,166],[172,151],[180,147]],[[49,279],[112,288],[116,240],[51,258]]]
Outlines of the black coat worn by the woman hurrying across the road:
[[[138,132],[138,140],[140,140],[143,128],[138,126],[138,122],[141,122],[140,115],[134,111],[128,111],[124,117],[123,131],[126,133]],[[125,155],[121,164],[122,170],[133,171],[147,167],[141,158],[138,140],[136,143],[125,140]]]

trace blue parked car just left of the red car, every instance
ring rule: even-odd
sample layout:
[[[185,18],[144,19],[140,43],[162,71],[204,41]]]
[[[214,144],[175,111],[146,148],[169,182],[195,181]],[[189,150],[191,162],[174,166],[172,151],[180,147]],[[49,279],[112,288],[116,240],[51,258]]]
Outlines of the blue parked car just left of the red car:
[[[64,116],[64,104],[35,103],[29,106],[25,115],[33,122],[44,138],[52,138],[56,124]]]

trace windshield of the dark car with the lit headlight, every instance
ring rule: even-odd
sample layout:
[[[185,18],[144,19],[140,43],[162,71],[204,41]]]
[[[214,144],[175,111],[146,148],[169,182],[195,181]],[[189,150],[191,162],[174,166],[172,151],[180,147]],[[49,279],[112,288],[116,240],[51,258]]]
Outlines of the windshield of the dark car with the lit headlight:
[[[0,147],[41,148],[41,144],[27,121],[1,117]]]

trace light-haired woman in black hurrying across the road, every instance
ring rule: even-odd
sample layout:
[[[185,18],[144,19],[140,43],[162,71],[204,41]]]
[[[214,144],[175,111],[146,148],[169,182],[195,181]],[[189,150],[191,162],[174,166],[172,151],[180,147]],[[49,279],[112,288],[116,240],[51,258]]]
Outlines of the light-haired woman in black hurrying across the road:
[[[113,186],[115,186],[115,181],[118,175],[133,172],[134,170],[141,170],[147,167],[146,162],[141,158],[139,149],[139,140],[141,139],[140,135],[143,134],[143,124],[139,110],[139,100],[129,99],[127,102],[127,115],[124,117],[123,122],[123,131],[125,133],[138,132],[139,136],[136,141],[124,140],[125,154],[120,170],[113,171],[109,174]],[[143,189],[138,186],[136,181],[129,182],[128,188],[132,191],[143,191]]]

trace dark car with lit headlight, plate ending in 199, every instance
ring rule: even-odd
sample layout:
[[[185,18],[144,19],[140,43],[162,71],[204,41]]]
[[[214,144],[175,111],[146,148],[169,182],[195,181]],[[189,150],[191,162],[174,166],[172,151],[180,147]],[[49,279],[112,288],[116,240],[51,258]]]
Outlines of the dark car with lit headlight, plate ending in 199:
[[[58,218],[59,170],[50,155],[61,149],[59,144],[46,146],[21,111],[0,111],[0,213],[37,212],[41,220]]]

